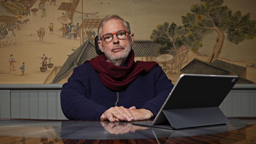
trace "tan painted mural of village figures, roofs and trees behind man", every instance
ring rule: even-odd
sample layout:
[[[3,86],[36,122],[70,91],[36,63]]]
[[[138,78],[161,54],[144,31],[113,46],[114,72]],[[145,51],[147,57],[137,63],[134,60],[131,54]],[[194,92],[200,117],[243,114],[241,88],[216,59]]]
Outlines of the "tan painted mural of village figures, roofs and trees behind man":
[[[135,34],[135,61],[157,61],[175,83],[182,73],[256,82],[254,0],[2,0],[0,83],[65,83],[95,57],[106,15]]]

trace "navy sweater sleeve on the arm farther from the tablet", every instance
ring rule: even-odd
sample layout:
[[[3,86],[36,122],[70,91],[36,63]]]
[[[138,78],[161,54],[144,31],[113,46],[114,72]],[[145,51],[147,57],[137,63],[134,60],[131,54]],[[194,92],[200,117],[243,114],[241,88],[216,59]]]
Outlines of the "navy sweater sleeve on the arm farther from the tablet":
[[[68,119],[100,120],[107,108],[89,100],[89,92],[89,76],[81,75],[79,68],[74,68],[61,90],[61,109]]]

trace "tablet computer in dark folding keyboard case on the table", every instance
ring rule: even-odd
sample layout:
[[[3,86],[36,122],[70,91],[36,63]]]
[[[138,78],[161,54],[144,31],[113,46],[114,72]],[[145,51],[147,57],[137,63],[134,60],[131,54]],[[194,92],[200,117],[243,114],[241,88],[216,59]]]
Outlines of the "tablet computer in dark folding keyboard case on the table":
[[[219,105],[237,81],[237,76],[182,74],[152,124],[133,124],[167,129],[226,124]]]

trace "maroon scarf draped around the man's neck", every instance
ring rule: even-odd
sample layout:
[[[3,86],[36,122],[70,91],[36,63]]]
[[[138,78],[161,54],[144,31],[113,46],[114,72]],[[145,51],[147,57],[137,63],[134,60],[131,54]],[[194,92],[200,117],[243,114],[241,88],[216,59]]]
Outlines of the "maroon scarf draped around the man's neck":
[[[98,72],[100,81],[109,89],[115,91],[125,90],[141,73],[148,73],[158,63],[137,61],[134,62],[134,51],[131,50],[127,57],[127,66],[116,66],[107,61],[104,54],[98,55],[90,61],[93,68]]]

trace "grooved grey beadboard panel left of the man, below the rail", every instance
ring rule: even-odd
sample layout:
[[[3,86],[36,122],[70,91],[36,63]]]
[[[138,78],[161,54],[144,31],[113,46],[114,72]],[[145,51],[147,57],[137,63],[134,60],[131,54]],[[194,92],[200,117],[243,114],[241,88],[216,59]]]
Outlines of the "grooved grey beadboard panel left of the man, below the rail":
[[[11,118],[67,119],[61,110],[60,92],[11,91]]]

